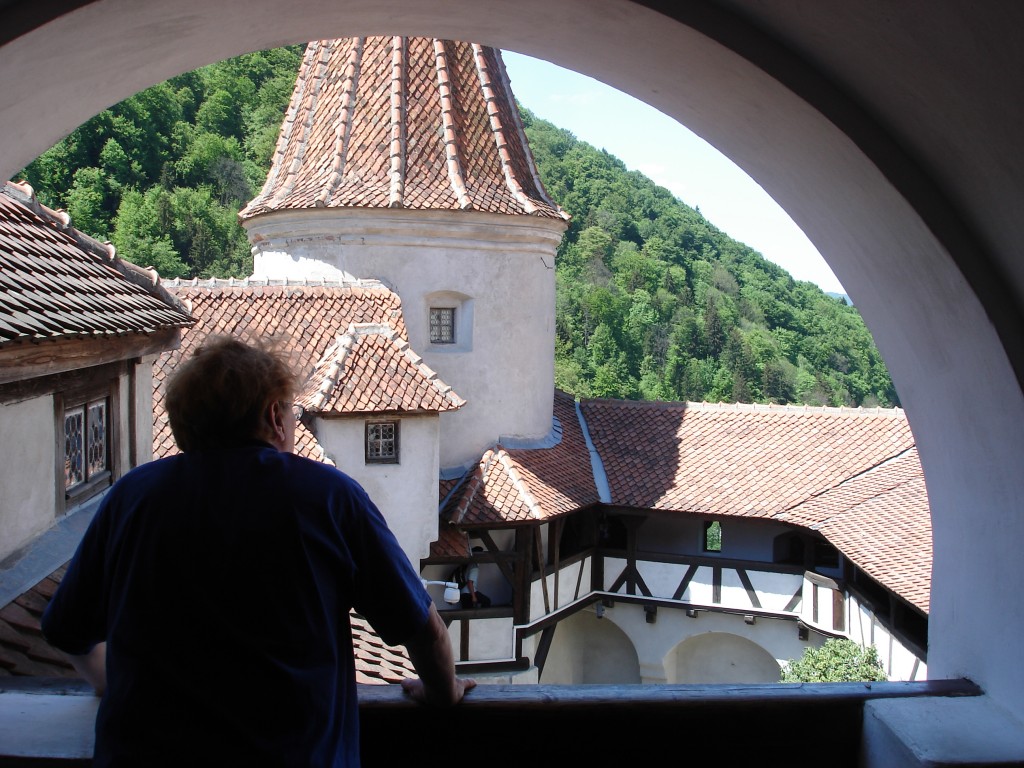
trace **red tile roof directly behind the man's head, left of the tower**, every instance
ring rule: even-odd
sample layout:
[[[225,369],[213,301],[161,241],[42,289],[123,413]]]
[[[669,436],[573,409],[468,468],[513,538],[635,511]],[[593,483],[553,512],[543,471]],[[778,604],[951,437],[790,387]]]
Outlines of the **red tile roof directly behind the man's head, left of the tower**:
[[[279,284],[266,281],[169,282],[167,289],[191,307],[196,327],[181,336],[179,349],[154,365],[154,445],[156,458],[177,453],[164,386],[180,359],[210,334],[279,341],[304,381],[324,350],[352,324],[390,326],[407,338],[398,296],[376,281],[335,285]],[[296,435],[298,453],[318,459],[323,451],[308,430]]]

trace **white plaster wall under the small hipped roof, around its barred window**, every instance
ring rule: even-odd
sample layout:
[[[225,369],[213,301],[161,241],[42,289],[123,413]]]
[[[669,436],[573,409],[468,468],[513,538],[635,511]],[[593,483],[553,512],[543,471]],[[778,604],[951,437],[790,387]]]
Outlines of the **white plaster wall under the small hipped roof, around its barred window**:
[[[437,539],[437,416],[404,416],[399,463],[367,464],[365,421],[317,419],[324,451],[370,495],[414,566]]]

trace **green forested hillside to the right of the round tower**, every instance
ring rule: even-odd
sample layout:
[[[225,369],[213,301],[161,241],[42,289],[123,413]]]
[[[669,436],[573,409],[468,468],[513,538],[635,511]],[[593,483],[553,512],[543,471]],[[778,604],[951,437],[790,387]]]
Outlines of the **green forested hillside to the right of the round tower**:
[[[857,310],[799,283],[606,152],[523,111],[572,215],[556,381],[601,397],[898,404]]]

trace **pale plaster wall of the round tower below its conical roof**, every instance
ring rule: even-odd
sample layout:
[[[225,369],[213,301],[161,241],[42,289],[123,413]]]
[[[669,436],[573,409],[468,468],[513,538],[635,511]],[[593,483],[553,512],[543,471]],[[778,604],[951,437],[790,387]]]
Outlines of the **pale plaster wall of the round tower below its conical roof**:
[[[551,431],[554,253],[564,222],[348,209],[267,214],[246,227],[257,275],[374,278],[401,297],[413,348],[467,401],[441,416],[442,467],[475,461],[501,436]],[[471,348],[430,344],[429,298],[438,293],[472,301]]]

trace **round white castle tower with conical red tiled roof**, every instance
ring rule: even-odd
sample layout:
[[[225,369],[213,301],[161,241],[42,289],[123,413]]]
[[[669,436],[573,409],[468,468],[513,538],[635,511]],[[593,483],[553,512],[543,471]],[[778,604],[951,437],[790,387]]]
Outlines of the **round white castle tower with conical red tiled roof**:
[[[410,343],[466,398],[440,466],[551,430],[555,249],[500,53],[427,38],[310,43],[260,194],[240,214],[259,276],[375,278]]]

